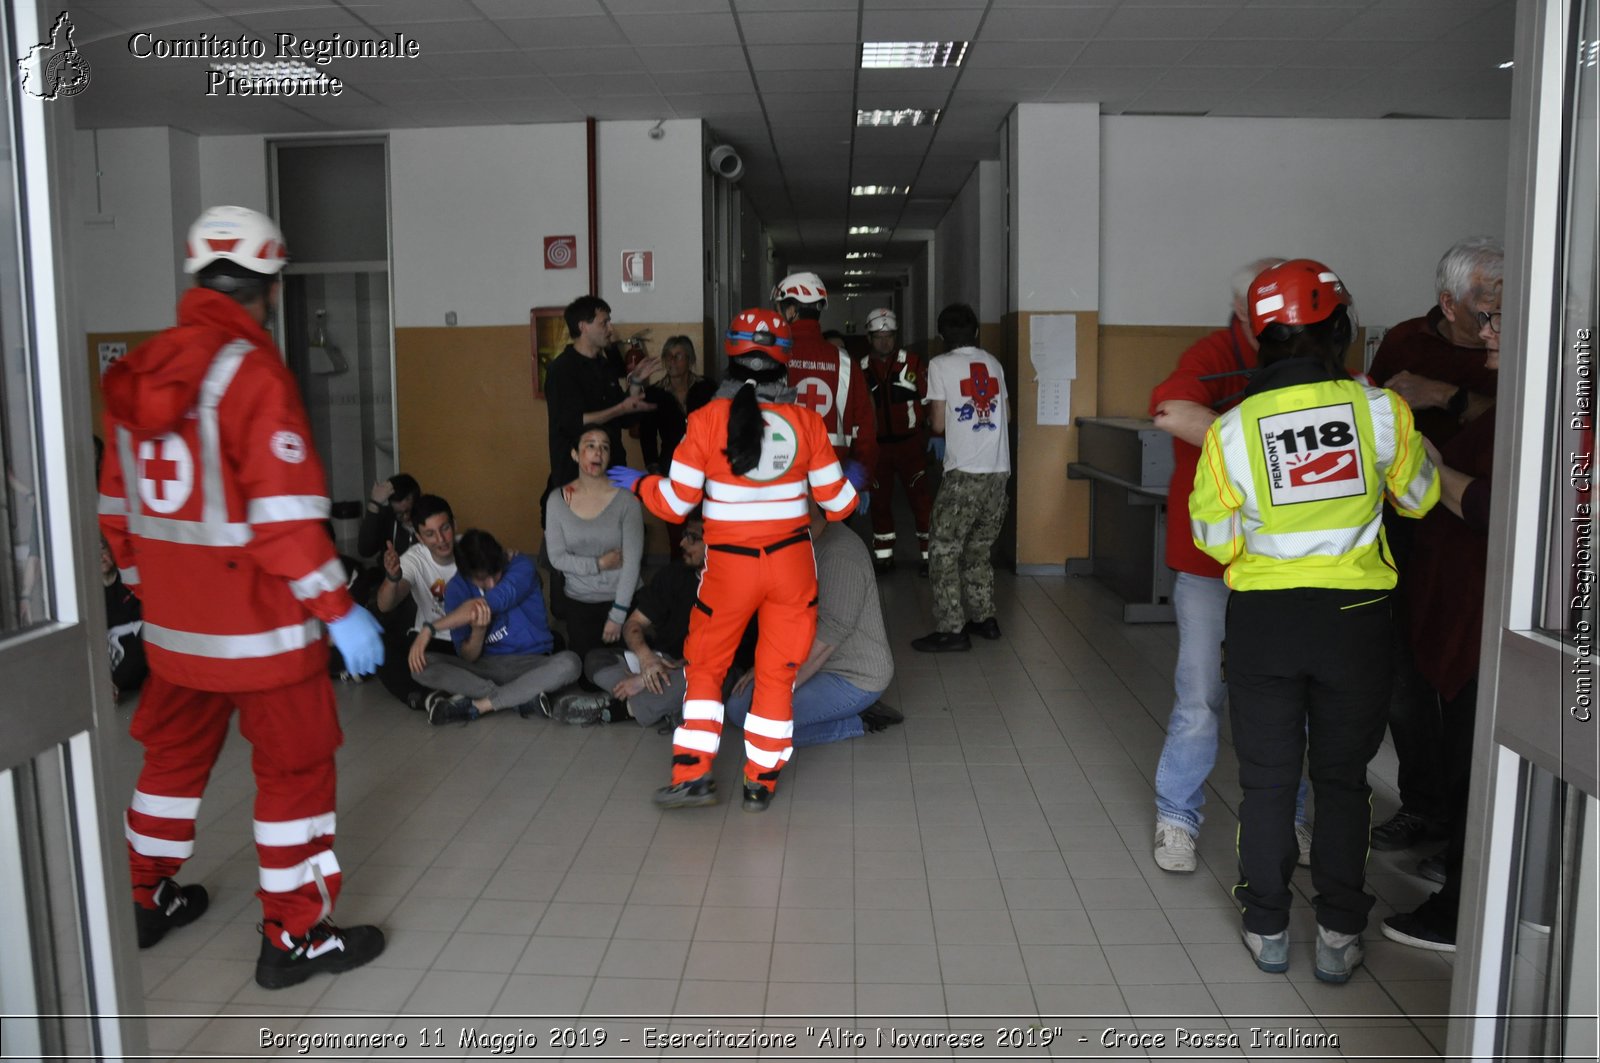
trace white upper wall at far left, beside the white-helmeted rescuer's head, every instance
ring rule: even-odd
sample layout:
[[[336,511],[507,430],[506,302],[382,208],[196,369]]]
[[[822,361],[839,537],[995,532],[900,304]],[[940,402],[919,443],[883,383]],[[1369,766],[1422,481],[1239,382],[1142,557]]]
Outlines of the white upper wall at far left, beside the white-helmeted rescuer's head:
[[[194,221],[173,218],[173,130],[165,126],[75,134],[72,251],[83,331],[173,323],[184,231]]]

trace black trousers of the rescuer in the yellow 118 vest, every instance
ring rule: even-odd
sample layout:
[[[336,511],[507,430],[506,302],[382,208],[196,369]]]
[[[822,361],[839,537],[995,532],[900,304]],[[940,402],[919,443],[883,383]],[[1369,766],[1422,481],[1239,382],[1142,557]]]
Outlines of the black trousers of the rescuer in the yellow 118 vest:
[[[1243,789],[1234,900],[1246,930],[1288,927],[1302,762],[1317,800],[1317,922],[1336,933],[1366,927],[1374,903],[1365,890],[1366,764],[1384,738],[1392,650],[1387,591],[1299,588],[1229,597],[1227,698]]]

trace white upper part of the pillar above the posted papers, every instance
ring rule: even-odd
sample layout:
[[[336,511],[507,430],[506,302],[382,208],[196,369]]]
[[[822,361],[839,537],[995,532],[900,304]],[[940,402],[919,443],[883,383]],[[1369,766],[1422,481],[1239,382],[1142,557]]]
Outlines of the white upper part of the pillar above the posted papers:
[[[1011,158],[1011,299],[1018,311],[1099,307],[1099,106],[1018,104]]]

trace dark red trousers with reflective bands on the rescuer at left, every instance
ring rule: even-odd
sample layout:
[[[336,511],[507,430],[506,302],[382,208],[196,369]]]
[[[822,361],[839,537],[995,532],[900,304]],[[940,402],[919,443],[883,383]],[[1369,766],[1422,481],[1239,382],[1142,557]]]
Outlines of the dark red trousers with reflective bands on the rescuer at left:
[[[341,879],[333,855],[333,754],[344,733],[325,674],[240,693],[190,690],[150,676],[131,727],[144,744],[126,818],[133,898],[149,906],[155,885],[194,855],[200,796],[235,708],[256,775],[256,897],[264,919],[302,937],[333,909]]]

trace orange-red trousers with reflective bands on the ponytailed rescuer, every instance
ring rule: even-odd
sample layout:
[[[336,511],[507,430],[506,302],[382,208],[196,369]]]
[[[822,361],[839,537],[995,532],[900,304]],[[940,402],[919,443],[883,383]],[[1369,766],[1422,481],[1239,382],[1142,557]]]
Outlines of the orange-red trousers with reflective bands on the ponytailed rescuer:
[[[768,552],[771,551],[771,552]],[[744,778],[776,789],[794,752],[795,672],[816,636],[816,557],[805,536],[789,546],[712,546],[706,551],[699,599],[683,640],[683,724],[672,735],[672,781],[710,772],[722,744],[722,685],[750,616],[755,693],[744,719]]]

